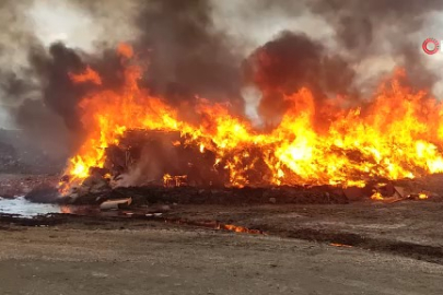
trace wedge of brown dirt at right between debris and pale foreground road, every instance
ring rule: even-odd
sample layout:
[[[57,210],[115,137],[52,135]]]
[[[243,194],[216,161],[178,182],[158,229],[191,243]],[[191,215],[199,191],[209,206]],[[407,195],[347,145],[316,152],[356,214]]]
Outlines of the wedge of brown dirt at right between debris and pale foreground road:
[[[443,264],[443,203],[404,201],[330,205],[185,206],[189,221],[217,220],[269,235],[343,244]]]

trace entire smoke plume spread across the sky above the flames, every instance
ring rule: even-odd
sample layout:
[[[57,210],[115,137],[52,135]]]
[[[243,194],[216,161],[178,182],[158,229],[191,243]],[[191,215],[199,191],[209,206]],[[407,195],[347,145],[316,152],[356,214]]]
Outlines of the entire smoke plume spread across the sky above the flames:
[[[358,66],[378,56],[405,67],[413,85],[432,87],[435,75],[425,67],[420,44],[409,36],[420,33],[429,15],[443,10],[440,0],[253,1],[244,4],[248,17],[234,11],[233,23],[254,27],[254,21],[270,10],[281,19],[314,15],[333,30],[335,46],[316,39],[315,32],[292,26],[245,56],[236,50],[238,40],[214,22],[221,5],[214,1],[61,1],[93,20],[91,32],[100,36],[93,52],[63,43],[45,46],[27,20],[34,3],[0,3],[0,102],[20,129],[59,155],[72,153],[88,129],[80,119],[82,97],[97,87],[121,84],[123,66],[114,54],[119,40],[130,43],[137,58],[147,62],[140,86],[183,109],[187,119],[197,117],[193,110],[197,96],[229,102],[243,115],[242,87],[254,85],[261,92],[259,115],[275,121],[288,107],[282,95],[301,87],[310,87],[317,104],[335,95],[360,102],[359,92],[368,86],[362,81],[374,76],[359,72]],[[82,72],[86,64],[102,75],[102,85],[72,83],[69,74]]]

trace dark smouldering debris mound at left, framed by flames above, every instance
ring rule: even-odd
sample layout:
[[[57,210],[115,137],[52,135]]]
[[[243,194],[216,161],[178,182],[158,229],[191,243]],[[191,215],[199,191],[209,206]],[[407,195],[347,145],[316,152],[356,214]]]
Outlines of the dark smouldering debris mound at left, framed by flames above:
[[[229,176],[214,162],[214,153],[186,144],[179,132],[128,130],[106,149],[104,168],[116,179],[129,175],[133,186],[223,186]]]

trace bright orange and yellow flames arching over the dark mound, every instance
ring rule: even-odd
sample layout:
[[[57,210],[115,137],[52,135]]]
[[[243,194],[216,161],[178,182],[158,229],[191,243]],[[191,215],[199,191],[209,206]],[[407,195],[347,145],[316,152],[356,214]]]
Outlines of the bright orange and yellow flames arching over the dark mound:
[[[118,52],[126,68],[123,88],[102,88],[80,103],[88,137],[67,167],[70,185],[88,177],[92,167],[104,167],[106,149],[135,129],[180,132],[185,144],[217,155],[213,165],[228,170],[231,186],[252,185],[248,173],[254,169],[266,170],[264,184],[341,186],[443,172],[442,103],[404,86],[401,70],[364,107],[342,106],[339,97],[318,106],[308,88],[285,94],[289,107],[280,123],[263,131],[232,115],[229,106],[198,97],[195,110],[202,120],[180,119],[177,107],[138,86],[142,69],[130,46],[119,46]],[[102,83],[91,68],[71,79]],[[316,114],[327,114],[322,127]]]

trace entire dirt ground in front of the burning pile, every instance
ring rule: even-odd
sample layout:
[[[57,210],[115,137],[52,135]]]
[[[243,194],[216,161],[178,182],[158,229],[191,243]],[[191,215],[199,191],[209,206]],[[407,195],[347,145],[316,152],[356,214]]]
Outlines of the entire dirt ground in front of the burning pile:
[[[441,212],[425,200],[0,214],[0,294],[443,294]]]

